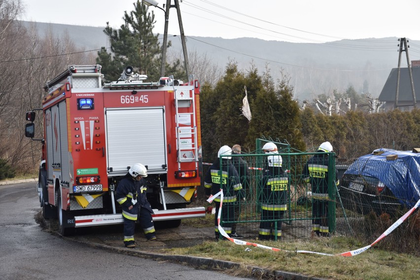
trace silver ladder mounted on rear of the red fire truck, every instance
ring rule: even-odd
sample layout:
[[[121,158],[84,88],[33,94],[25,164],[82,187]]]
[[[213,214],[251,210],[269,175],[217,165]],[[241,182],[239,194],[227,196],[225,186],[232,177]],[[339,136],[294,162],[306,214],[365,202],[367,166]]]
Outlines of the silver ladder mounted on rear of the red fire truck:
[[[169,77],[173,80],[173,76]],[[194,75],[189,76],[189,85],[194,87]],[[181,170],[182,162],[195,161],[195,168],[198,169],[198,147],[197,147],[197,120],[195,116],[194,88],[188,93],[177,90],[174,87],[175,95],[175,127],[176,127],[176,150],[178,152],[178,170]],[[179,108],[192,106],[192,113],[179,113]],[[190,126],[180,126],[181,120],[192,120]],[[191,141],[191,142],[190,142]]]

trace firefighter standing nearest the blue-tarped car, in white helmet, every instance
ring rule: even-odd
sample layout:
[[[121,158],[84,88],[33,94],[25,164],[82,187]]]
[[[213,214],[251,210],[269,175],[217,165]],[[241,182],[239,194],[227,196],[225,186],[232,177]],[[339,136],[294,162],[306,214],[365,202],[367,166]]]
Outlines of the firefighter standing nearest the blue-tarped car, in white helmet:
[[[303,178],[312,187],[312,232],[316,236],[329,236],[328,201],[330,198],[328,190],[330,187],[335,189],[335,186],[334,182],[328,180],[330,171],[328,162],[331,156],[334,157],[334,154],[331,154],[333,147],[330,142],[323,142],[319,145],[317,152],[319,154],[315,154],[306,163]],[[335,174],[335,184],[338,185],[337,170],[335,170]]]

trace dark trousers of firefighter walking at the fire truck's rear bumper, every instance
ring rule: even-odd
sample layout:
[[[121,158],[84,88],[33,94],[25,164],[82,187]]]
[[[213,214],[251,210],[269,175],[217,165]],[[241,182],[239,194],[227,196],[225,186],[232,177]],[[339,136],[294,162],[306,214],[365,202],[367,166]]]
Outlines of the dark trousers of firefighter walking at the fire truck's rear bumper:
[[[155,227],[153,225],[152,215],[146,208],[139,208],[139,215],[137,220],[143,229],[144,235],[147,239],[155,236]],[[134,232],[136,229],[136,220],[130,220],[124,217],[124,245],[134,244]]]

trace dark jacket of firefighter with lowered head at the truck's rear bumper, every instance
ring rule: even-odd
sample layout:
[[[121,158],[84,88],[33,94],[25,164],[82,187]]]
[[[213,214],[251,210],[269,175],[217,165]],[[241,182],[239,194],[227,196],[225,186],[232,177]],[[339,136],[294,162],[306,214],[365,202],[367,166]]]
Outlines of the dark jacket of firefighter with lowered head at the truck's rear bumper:
[[[118,183],[115,199],[122,206],[124,218],[137,220],[139,207],[143,207],[153,214],[153,210],[147,201],[146,189],[146,182],[143,178],[140,181],[136,181],[130,174],[127,174]],[[133,200],[137,200],[137,202],[133,204]],[[131,205],[133,205],[133,208],[128,209]]]

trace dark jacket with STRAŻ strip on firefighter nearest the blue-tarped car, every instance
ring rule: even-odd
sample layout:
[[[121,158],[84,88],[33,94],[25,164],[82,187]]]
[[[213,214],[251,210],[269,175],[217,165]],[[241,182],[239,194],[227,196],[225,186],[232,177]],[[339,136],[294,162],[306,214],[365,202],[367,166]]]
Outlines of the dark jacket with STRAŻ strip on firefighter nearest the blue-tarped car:
[[[338,185],[337,174],[336,170],[335,181]],[[311,157],[303,170],[303,179],[311,184],[314,199],[328,200],[328,155],[318,154]]]

